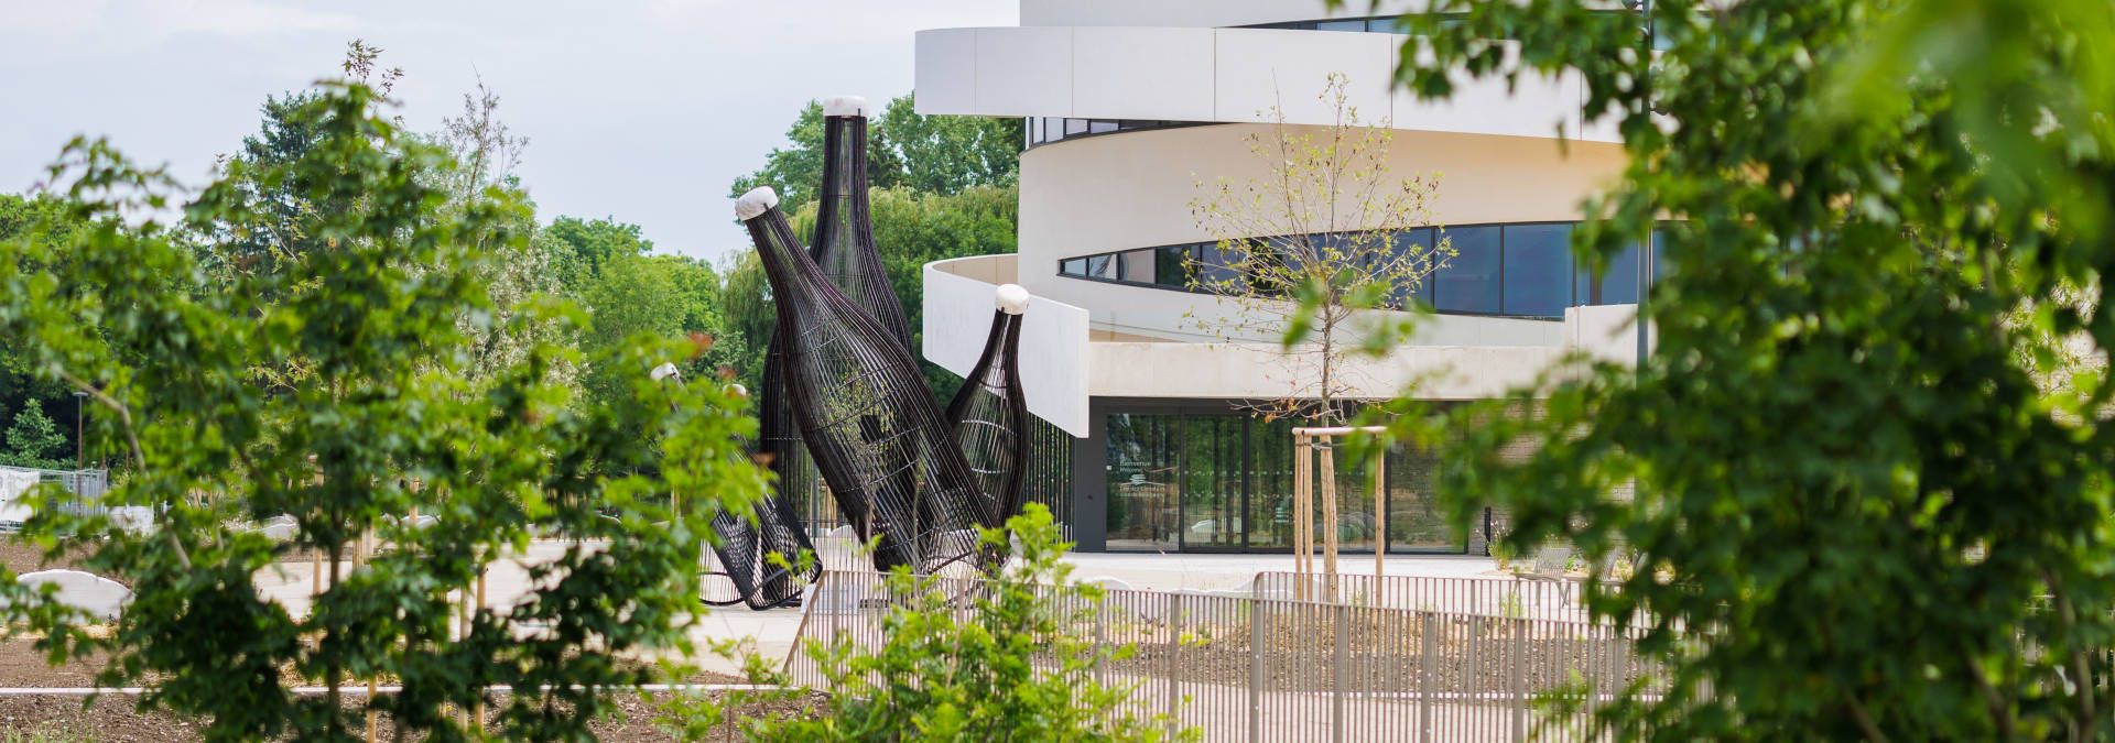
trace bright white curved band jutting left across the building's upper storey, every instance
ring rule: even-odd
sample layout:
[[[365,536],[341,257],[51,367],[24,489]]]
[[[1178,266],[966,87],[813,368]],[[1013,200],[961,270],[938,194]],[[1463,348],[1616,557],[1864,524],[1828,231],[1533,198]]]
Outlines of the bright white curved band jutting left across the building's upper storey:
[[[1343,74],[1362,120],[1406,131],[1618,141],[1588,127],[1576,74],[1468,80],[1449,101],[1396,89],[1406,36],[1246,27],[950,27],[918,32],[918,112],[1328,125]]]

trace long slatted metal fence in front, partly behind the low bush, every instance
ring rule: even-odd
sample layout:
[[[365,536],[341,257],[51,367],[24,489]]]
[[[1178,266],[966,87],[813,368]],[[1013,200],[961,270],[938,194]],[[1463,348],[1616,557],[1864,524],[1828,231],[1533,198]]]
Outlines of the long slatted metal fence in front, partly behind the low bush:
[[[924,585],[962,597],[962,618],[979,587]],[[878,648],[884,614],[907,599],[880,574],[823,574],[799,637]],[[1053,599],[1062,616],[1091,616],[1079,637],[1134,648],[1098,669],[1132,690],[1127,711],[1170,713],[1210,741],[1593,739],[1584,709],[1652,682],[1633,633],[1580,621],[1157,591]],[[802,642],[787,673],[825,688]],[[1565,699],[1582,711],[1552,711]]]

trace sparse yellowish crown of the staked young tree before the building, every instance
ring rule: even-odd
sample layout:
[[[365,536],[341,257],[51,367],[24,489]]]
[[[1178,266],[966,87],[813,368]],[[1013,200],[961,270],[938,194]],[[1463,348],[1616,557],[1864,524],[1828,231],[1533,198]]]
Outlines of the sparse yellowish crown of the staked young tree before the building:
[[[1212,293],[1231,312],[1199,319],[1220,338],[1299,338],[1277,357],[1286,393],[1256,407],[1269,418],[1316,426],[1343,422],[1345,374],[1354,355],[1392,348],[1404,327],[1381,310],[1411,308],[1417,287],[1453,247],[1419,245],[1406,230],[1430,226],[1426,203],[1436,175],[1398,175],[1390,167],[1394,129],[1368,125],[1349,103],[1347,78],[1332,74],[1318,99],[1335,112],[1328,127],[1271,125],[1248,135],[1263,177],[1197,184],[1197,228],[1216,239],[1206,255],[1184,255],[1191,289]]]

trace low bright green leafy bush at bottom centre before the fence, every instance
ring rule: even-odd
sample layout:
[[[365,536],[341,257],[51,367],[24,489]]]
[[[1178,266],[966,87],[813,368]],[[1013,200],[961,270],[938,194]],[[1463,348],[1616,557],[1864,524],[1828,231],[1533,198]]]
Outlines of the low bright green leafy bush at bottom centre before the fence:
[[[823,709],[804,716],[738,720],[751,741],[1195,741],[1165,716],[1125,711],[1134,688],[1102,684],[1104,663],[1123,663],[1136,646],[1100,646],[1081,633],[1093,625],[1102,591],[1070,578],[1072,547],[1043,504],[981,530],[990,549],[1017,549],[1005,578],[969,591],[960,580],[888,576],[882,642],[797,648],[825,675]],[[1011,538],[1009,538],[1011,534]],[[962,595],[975,595],[960,606]],[[1034,661],[1030,661],[1034,659]],[[776,661],[776,659],[772,659]],[[787,686],[776,663],[751,656],[753,682]],[[774,692],[804,699],[814,690]],[[728,709],[753,694],[677,697],[664,720],[685,739],[704,739]]]

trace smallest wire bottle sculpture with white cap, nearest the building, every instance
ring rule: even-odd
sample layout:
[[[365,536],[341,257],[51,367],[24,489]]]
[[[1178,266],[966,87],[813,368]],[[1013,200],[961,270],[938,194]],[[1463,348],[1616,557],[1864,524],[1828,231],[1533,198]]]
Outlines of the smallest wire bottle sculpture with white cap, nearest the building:
[[[1028,471],[1028,399],[1022,395],[1022,312],[1028,289],[1005,285],[996,291],[992,334],[983,355],[948,403],[948,422],[962,458],[977,473],[977,488],[998,504],[998,517],[1022,511],[1022,477]]]

